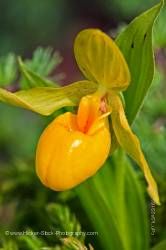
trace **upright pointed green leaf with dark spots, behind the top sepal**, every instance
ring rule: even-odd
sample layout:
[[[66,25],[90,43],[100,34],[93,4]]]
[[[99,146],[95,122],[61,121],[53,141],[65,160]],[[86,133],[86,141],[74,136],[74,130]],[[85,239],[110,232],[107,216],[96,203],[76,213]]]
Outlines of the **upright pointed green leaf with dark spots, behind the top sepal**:
[[[131,83],[124,93],[129,123],[134,120],[152,83],[152,28],[162,5],[163,1],[136,17],[116,39],[131,72]]]

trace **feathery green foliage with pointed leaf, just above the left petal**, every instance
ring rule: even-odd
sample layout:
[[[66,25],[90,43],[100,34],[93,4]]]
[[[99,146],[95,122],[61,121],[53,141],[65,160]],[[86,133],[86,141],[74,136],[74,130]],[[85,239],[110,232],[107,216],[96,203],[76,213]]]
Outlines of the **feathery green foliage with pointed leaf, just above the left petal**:
[[[21,75],[18,74],[16,55],[9,53],[0,58],[0,87],[19,82],[20,89],[28,89],[37,86],[55,86],[53,80],[61,80],[63,73],[54,75],[53,80],[46,79],[62,62],[59,52],[53,52],[51,48],[37,48],[31,59],[23,63],[19,58]],[[33,75],[33,78],[31,77]],[[42,77],[44,79],[42,79]],[[18,86],[17,86],[18,87]]]

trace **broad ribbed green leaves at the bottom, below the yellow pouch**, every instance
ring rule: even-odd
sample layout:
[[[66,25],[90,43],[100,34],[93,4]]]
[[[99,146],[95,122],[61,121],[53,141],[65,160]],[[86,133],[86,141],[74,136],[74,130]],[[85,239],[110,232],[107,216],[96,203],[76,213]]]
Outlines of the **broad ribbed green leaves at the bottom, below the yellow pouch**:
[[[143,189],[123,151],[117,151],[76,192],[98,232],[100,249],[148,249]]]

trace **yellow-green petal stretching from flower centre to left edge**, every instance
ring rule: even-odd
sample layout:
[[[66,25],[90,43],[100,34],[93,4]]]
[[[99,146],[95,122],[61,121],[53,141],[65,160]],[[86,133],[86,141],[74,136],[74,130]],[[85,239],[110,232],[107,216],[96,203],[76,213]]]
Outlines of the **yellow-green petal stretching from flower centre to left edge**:
[[[15,93],[0,88],[0,101],[50,115],[62,107],[78,105],[82,96],[91,94],[96,89],[97,84],[90,81],[79,81],[59,88],[32,88]]]

